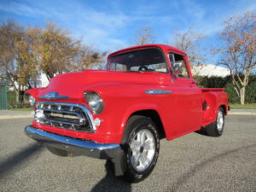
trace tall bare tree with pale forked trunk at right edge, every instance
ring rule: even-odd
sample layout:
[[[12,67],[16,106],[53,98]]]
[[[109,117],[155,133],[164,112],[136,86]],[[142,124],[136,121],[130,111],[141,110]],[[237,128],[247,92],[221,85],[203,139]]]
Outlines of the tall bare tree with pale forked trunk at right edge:
[[[220,48],[214,51],[220,54],[219,64],[230,69],[232,83],[243,105],[249,75],[256,68],[256,15],[247,12],[241,16],[232,16],[224,21],[224,30],[219,34]]]

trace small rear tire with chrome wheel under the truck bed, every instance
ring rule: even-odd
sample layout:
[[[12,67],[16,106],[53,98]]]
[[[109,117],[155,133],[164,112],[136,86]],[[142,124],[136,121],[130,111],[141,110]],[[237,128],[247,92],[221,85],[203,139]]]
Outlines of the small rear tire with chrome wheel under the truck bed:
[[[224,131],[224,110],[223,108],[218,108],[218,113],[216,120],[206,126],[206,132],[208,136],[220,137]]]

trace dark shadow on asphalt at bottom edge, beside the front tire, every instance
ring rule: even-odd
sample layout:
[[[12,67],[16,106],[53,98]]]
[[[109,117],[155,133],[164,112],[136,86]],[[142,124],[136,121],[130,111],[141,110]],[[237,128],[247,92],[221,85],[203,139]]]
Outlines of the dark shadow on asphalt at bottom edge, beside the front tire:
[[[131,183],[114,176],[114,166],[111,160],[106,160],[106,176],[97,183],[90,192],[124,191],[131,192]]]

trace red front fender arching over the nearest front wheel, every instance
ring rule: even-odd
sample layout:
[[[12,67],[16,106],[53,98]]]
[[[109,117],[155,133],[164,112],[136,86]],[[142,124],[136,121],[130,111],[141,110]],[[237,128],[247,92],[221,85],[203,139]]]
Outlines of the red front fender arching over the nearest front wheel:
[[[166,127],[164,106],[167,95],[148,95],[145,90],[160,89],[145,84],[97,84],[88,87],[102,96],[104,110],[96,115],[102,119],[99,129],[108,133],[113,143],[120,143],[125,131],[125,125],[133,113],[142,110],[154,110],[159,114],[162,124]],[[162,88],[163,89],[163,88]]]

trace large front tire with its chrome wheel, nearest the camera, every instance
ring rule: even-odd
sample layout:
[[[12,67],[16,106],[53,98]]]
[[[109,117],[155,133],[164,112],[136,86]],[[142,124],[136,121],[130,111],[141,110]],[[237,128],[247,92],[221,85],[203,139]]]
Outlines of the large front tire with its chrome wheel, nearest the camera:
[[[142,181],[153,171],[160,150],[160,139],[154,122],[147,117],[132,116],[125,127],[121,146],[124,177],[133,183]]]

